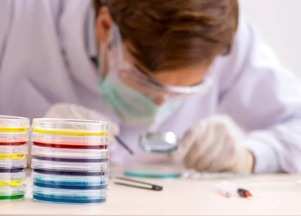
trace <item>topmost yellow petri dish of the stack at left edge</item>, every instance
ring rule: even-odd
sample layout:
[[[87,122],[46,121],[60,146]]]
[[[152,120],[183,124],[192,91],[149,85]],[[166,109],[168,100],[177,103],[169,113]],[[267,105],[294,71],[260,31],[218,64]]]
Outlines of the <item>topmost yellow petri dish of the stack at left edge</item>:
[[[0,132],[20,133],[28,131],[30,119],[18,116],[0,115]]]

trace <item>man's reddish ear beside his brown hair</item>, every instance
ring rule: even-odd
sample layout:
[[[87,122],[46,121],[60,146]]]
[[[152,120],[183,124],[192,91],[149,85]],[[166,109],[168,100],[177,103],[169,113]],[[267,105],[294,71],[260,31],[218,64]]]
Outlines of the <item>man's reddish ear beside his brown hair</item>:
[[[113,20],[107,7],[102,7],[96,19],[96,37],[98,43],[108,43]]]

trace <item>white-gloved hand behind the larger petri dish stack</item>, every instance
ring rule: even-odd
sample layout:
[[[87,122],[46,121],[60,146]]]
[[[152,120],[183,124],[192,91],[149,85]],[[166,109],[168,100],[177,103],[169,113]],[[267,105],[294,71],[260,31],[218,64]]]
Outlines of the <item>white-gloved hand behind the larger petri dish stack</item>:
[[[110,144],[115,142],[115,136],[119,134],[119,126],[108,120],[106,117],[96,112],[95,110],[88,109],[84,106],[57,103],[54,104],[44,116],[45,118],[63,118],[63,119],[82,119],[82,120],[94,120],[105,121],[110,124],[109,142]]]

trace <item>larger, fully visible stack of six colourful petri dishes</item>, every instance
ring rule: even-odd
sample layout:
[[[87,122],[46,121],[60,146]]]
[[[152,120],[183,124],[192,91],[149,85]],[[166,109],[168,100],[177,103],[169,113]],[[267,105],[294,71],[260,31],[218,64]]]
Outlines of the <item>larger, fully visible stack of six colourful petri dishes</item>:
[[[63,204],[104,203],[108,185],[109,124],[34,119],[33,198]]]

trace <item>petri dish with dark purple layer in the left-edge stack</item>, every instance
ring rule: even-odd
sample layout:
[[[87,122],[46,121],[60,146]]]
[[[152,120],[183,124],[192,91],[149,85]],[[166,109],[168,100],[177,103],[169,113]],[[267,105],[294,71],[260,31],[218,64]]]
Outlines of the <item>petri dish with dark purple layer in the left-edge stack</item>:
[[[23,172],[27,167],[27,160],[24,159],[16,159],[16,160],[0,160],[0,173],[3,172]],[[0,174],[0,175],[1,175]]]

